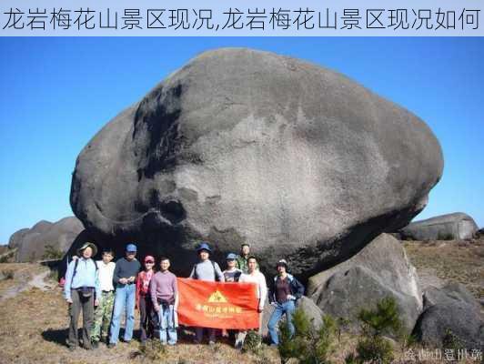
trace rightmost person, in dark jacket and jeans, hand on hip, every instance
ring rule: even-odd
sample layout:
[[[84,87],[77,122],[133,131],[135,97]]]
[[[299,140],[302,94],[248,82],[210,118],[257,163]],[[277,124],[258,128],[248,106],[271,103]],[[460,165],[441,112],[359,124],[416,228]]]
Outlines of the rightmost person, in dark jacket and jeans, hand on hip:
[[[269,302],[275,306],[274,312],[269,319],[267,328],[272,345],[278,345],[277,323],[286,315],[287,328],[290,335],[294,335],[292,314],[296,309],[296,301],[304,295],[304,286],[292,275],[287,273],[287,261],[281,259],[277,262],[277,276],[269,288]]]

